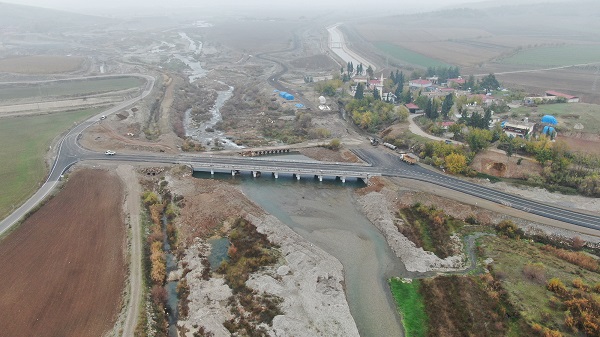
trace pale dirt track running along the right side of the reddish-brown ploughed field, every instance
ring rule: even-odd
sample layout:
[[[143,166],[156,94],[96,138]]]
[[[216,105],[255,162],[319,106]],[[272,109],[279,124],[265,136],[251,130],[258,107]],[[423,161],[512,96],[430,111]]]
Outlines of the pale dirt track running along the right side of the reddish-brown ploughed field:
[[[125,214],[129,218],[131,230],[130,260],[129,260],[129,301],[127,315],[123,327],[124,337],[133,336],[137,325],[142,301],[142,233],[140,228],[140,195],[141,186],[136,177],[133,166],[120,165],[117,174],[125,185]]]

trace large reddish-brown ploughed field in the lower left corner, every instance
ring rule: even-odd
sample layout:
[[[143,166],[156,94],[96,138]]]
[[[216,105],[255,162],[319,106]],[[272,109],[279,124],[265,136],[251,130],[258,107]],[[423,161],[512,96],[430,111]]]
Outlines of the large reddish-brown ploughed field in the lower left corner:
[[[102,336],[121,308],[125,226],[121,182],[74,173],[0,243],[2,336]]]

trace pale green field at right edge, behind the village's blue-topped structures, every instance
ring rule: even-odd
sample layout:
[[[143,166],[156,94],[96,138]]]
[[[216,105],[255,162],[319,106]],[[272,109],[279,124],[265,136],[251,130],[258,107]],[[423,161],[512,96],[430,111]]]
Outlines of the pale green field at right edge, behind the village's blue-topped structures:
[[[552,115],[558,120],[559,131],[574,131],[576,124],[582,133],[600,133],[600,105],[586,103],[541,104],[537,107],[519,107],[512,109],[511,115],[530,116],[531,122],[539,122],[544,115]]]

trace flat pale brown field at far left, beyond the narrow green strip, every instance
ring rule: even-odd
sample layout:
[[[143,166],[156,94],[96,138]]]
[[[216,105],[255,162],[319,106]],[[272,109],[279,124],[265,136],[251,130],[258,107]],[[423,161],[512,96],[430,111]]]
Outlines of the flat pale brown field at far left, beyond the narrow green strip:
[[[56,74],[79,69],[85,59],[76,56],[21,56],[0,59],[0,72]]]

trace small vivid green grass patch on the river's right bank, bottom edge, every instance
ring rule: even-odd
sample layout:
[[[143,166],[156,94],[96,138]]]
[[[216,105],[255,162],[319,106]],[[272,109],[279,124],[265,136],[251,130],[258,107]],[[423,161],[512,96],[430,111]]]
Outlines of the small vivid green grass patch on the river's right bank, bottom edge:
[[[389,280],[389,283],[398,312],[402,315],[402,325],[406,337],[427,336],[427,314],[423,297],[419,293],[420,281],[413,280],[411,283],[404,283],[393,278]]]

